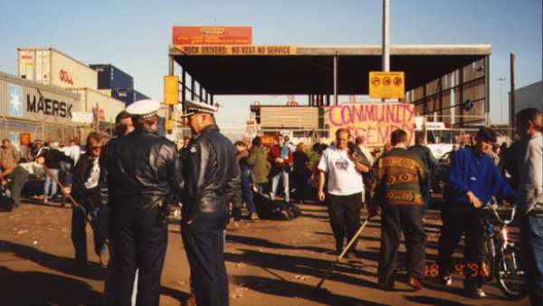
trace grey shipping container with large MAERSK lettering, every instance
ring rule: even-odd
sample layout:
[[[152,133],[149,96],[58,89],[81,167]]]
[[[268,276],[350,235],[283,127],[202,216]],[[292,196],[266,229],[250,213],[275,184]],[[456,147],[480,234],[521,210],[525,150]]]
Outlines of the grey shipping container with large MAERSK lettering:
[[[0,72],[0,138],[64,141],[75,132],[74,111],[81,111],[79,95]]]

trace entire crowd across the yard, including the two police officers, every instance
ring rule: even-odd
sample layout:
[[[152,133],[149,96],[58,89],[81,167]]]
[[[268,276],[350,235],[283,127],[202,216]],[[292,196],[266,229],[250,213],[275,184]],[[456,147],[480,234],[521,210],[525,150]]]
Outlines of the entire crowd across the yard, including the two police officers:
[[[193,131],[183,148],[157,135],[157,109],[152,100],[132,104],[116,119],[117,136],[105,144],[92,132],[84,148],[35,140],[24,158],[8,139],[0,148],[4,189],[14,201],[29,177],[44,177],[43,203],[56,194],[71,197],[71,240],[75,262],[87,265],[85,226],[94,232],[100,257],[109,245],[105,299],[129,304],[136,288],[137,304],[157,305],[160,274],[167,247],[168,205],[181,204],[181,233],[191,269],[191,297],[197,305],[227,305],[224,230],[228,206],[234,219],[257,220],[255,193],[271,201],[317,201],[328,207],[336,252],[355,238],[362,207],[367,217],[381,215],[377,281],[395,290],[398,247],[405,236],[407,283],[424,289],[427,235],[424,215],[432,203],[436,161],[416,133],[408,146],[405,130],[391,133],[383,148],[367,148],[364,138],[338,129],[330,145],[294,145],[278,134],[264,146],[224,138],[214,121],[215,109],[187,102],[186,125]],[[438,243],[438,280],[452,285],[452,254],[465,236],[464,293],[482,298],[481,206],[492,196],[517,205],[523,268],[532,305],[543,304],[543,115],[527,109],[517,114],[517,139],[510,148],[497,145],[496,134],[481,128],[468,146],[457,146],[445,180]],[[135,149],[138,148],[138,149]],[[57,191],[58,183],[65,186]],[[354,258],[356,241],[346,257]],[[105,262],[103,263],[105,264]],[[475,269],[473,268],[475,267]],[[138,282],[134,283],[138,271]]]

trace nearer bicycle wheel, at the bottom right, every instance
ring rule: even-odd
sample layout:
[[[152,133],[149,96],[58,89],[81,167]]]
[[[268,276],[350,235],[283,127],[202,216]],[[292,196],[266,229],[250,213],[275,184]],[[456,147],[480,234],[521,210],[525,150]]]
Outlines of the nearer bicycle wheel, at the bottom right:
[[[520,256],[517,246],[507,246],[503,252],[498,252],[496,260],[496,276],[500,289],[510,300],[520,300],[528,293]]]

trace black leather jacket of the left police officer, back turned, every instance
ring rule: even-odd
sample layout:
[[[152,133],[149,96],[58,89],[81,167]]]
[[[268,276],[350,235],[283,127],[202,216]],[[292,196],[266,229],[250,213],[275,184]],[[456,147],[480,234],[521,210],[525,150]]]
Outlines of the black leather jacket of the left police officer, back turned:
[[[100,203],[116,206],[130,199],[157,206],[176,201],[183,189],[176,145],[150,129],[111,139],[100,156]]]

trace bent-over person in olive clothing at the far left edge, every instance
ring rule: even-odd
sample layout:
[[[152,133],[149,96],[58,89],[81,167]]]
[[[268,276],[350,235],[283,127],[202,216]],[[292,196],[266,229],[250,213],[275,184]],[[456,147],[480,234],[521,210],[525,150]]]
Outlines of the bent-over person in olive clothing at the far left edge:
[[[24,184],[28,181],[30,175],[42,178],[44,175],[43,164],[45,158],[38,157],[35,161],[21,163],[14,168],[7,178],[9,183],[6,187],[10,191],[11,198],[14,200],[14,206],[17,207],[21,204],[21,192],[23,191]]]

